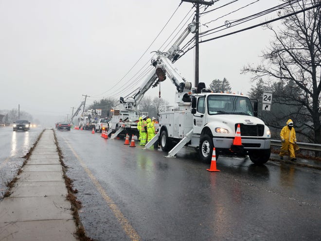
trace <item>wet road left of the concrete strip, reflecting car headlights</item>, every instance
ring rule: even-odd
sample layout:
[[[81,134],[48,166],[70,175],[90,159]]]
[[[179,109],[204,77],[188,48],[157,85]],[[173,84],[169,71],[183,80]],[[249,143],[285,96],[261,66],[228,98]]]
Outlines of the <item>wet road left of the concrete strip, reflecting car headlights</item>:
[[[13,131],[12,127],[0,127],[0,198],[22,166],[24,158],[35,144],[42,128],[31,128],[30,131]]]

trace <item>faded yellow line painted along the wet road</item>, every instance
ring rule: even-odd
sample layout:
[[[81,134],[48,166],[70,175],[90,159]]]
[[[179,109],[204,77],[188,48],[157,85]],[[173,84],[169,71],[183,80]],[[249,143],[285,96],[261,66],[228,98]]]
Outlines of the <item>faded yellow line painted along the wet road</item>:
[[[71,145],[67,143],[69,148],[71,149],[73,155],[77,158],[80,165],[84,168],[85,172],[87,172],[89,178],[91,179],[92,183],[95,185],[96,189],[99,191],[99,193],[103,196],[104,200],[106,201],[107,205],[110,207],[111,211],[114,213],[116,219],[118,222],[122,225],[125,233],[132,241],[140,241],[141,237],[138,235],[136,230],[129,224],[128,220],[125,218],[124,214],[119,210],[117,205],[111,200],[111,198],[107,195],[106,191],[103,189],[103,187],[100,185],[100,183],[97,181],[95,176],[90,172],[86,164],[83,162],[83,160],[77,155],[77,153],[73,150]]]

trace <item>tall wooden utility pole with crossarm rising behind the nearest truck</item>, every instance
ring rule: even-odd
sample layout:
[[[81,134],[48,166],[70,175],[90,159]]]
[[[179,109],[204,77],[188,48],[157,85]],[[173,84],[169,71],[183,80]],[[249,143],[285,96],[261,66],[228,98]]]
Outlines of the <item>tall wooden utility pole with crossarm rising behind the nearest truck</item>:
[[[195,21],[196,21],[196,31],[195,31],[195,87],[198,86],[198,79],[199,79],[199,4],[212,6],[214,1],[203,1],[203,0],[181,0],[186,2],[192,2],[196,6],[196,14],[195,14]]]

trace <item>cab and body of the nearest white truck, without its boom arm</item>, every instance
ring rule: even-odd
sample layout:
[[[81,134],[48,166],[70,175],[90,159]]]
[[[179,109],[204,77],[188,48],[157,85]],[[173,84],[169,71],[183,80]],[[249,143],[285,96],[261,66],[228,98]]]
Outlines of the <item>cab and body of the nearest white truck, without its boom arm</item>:
[[[184,137],[188,137],[186,146],[198,149],[204,162],[211,161],[214,147],[216,156],[219,153],[249,155],[253,163],[267,162],[270,131],[256,117],[257,104],[253,108],[248,97],[232,93],[200,92],[190,96],[190,103],[178,103],[178,111],[160,113],[163,151],[174,150]],[[233,140],[238,125],[242,145],[236,148]]]

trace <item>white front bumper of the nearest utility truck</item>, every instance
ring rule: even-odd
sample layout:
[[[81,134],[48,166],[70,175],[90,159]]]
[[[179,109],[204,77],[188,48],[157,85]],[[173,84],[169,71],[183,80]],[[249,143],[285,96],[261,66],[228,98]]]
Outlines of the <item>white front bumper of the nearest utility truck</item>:
[[[244,149],[269,149],[270,139],[242,139]],[[233,144],[232,138],[213,138],[215,148],[230,149]]]

